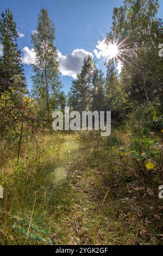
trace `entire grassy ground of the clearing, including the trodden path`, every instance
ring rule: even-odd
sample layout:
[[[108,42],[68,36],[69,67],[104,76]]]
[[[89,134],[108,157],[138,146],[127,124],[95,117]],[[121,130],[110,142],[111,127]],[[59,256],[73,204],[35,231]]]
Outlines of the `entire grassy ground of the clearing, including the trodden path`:
[[[121,132],[106,141],[98,132],[40,134],[23,145],[19,164],[9,147],[1,163],[1,243],[160,244],[162,219],[153,216],[162,201],[155,188],[154,196],[133,190],[151,184],[118,156],[127,141]]]

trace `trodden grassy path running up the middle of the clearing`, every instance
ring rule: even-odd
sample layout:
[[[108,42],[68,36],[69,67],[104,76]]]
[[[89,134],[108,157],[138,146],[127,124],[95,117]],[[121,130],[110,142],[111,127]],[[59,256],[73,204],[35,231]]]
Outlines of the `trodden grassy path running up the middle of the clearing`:
[[[51,222],[57,223],[55,228],[58,228],[53,238],[59,244],[121,243],[114,238],[117,228],[112,230],[112,204],[110,208],[107,205],[105,210],[102,208],[108,186],[102,172],[91,166],[93,144],[83,144],[73,135],[64,135],[62,149],[58,169],[51,174],[51,178],[57,175],[61,182],[60,202]]]

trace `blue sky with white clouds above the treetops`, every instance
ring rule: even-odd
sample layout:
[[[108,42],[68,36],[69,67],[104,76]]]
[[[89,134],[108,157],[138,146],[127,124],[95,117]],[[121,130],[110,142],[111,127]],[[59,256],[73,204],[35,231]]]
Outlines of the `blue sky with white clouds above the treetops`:
[[[122,3],[123,0],[1,0],[0,11],[10,7],[20,32],[18,45],[23,50],[23,62],[27,63],[24,64],[24,70],[28,88],[32,86],[29,64],[34,57],[30,35],[36,29],[40,8],[48,9],[49,17],[55,25],[55,44],[62,70],[61,81],[67,93],[72,77],[76,76],[86,54],[93,53],[97,65],[105,71],[102,58],[103,40],[111,28],[113,8]],[[158,16],[163,17],[162,0]],[[99,47],[96,48],[96,45]],[[93,52],[95,49],[98,54]]]

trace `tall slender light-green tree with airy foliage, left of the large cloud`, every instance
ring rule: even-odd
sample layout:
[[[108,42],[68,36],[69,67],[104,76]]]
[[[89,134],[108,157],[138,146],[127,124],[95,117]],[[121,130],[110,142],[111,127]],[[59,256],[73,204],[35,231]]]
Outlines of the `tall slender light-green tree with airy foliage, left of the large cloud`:
[[[46,109],[46,117],[57,107],[61,82],[58,63],[58,52],[54,45],[55,28],[49,19],[48,11],[41,9],[37,30],[32,35],[36,53],[33,65],[33,95],[41,108]]]

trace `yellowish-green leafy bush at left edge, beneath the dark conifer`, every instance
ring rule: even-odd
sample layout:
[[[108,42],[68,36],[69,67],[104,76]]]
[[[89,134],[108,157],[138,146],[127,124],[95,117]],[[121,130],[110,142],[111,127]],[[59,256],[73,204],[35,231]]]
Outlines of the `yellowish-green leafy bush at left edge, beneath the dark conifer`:
[[[5,142],[13,142],[15,147],[15,142],[18,143],[20,140],[22,123],[22,143],[27,143],[35,131],[41,128],[37,107],[29,96],[21,97],[19,105],[15,105],[11,93],[2,93],[0,114],[1,147]]]

